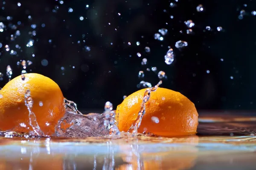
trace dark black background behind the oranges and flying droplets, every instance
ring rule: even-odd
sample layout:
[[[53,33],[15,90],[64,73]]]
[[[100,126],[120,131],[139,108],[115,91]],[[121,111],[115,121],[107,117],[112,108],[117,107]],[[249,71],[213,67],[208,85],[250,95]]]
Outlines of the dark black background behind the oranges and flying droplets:
[[[177,6],[169,7],[171,2]],[[204,12],[197,12],[199,4]],[[239,20],[241,10],[245,13]],[[106,101],[116,107],[123,95],[138,90],[140,81],[157,84],[157,75],[146,71],[156,66],[168,76],[161,86],[186,95],[197,109],[256,109],[254,10],[256,1],[252,0],[64,0],[63,4],[59,0],[1,0],[0,22],[6,28],[0,32],[0,72],[4,74],[0,86],[8,82],[7,65],[16,77],[22,70],[17,61],[30,60],[27,72],[52,78],[79,108],[103,108]],[[185,20],[194,21],[194,35],[186,34]],[[206,26],[212,30],[205,31]],[[223,31],[217,32],[217,26]],[[163,41],[155,40],[161,28],[168,29],[168,35]],[[17,30],[20,36],[12,40]],[[30,39],[34,44],[26,47]],[[187,48],[175,48],[178,40],[187,41]],[[6,45],[17,55],[7,52]],[[151,48],[150,54],[145,46]],[[175,52],[171,65],[164,62],[168,46]],[[142,58],[148,59],[147,65],[141,65]],[[43,59],[49,62],[47,66],[42,66]],[[138,78],[140,70],[145,72],[144,79]]]

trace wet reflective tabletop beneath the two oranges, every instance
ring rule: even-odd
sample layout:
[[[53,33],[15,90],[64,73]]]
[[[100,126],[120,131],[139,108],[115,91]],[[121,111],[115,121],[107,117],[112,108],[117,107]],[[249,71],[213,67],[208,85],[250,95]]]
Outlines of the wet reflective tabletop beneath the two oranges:
[[[199,112],[198,135],[0,138],[0,170],[254,170],[256,115]],[[255,135],[255,136],[254,136]]]

